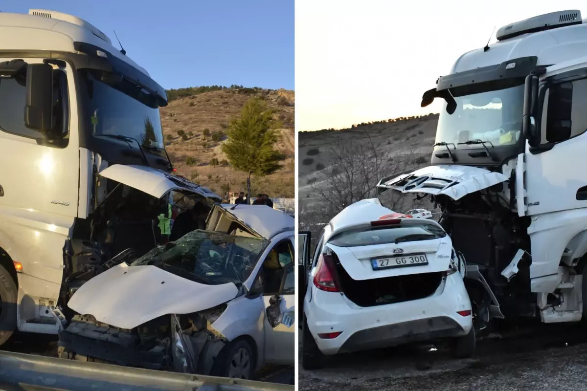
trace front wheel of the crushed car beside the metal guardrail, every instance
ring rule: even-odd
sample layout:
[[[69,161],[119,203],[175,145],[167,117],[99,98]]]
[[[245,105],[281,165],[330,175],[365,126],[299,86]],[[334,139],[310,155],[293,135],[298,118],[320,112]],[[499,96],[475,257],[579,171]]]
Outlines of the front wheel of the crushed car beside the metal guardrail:
[[[251,380],[254,374],[255,357],[251,345],[245,339],[232,341],[224,346],[214,359],[212,376]]]

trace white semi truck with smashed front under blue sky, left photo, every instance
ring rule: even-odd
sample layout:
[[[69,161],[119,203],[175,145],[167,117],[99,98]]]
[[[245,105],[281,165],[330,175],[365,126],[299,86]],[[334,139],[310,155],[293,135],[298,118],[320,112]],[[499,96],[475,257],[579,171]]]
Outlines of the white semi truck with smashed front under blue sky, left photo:
[[[90,23],[0,13],[0,57],[2,344],[16,328],[57,334],[80,284],[156,246],[170,192],[220,197],[173,175],[166,91]]]

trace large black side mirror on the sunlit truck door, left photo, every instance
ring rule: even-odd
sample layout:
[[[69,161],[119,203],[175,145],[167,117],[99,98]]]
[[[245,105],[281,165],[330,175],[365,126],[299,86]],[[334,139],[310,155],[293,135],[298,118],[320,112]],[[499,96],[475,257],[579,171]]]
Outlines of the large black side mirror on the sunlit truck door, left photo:
[[[53,67],[29,64],[26,70],[25,126],[48,135],[53,128]]]

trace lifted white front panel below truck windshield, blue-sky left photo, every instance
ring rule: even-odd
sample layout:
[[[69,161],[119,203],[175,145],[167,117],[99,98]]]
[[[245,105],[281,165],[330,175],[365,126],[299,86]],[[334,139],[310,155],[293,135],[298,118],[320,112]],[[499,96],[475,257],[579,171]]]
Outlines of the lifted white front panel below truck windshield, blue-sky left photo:
[[[161,198],[166,193],[174,190],[194,193],[218,201],[222,200],[221,196],[208,188],[190,182],[185,178],[181,178],[181,176],[171,175],[160,169],[147,166],[114,164],[100,171],[99,175],[156,198]]]

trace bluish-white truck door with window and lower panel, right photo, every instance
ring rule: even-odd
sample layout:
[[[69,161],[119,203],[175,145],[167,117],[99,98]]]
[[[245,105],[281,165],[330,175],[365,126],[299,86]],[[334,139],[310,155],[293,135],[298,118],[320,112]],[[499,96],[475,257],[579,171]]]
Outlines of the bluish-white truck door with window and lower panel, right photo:
[[[527,145],[524,154],[526,215],[541,216],[528,228],[532,292],[549,293],[558,286],[556,273],[565,246],[584,229],[585,215],[580,212],[574,217],[548,213],[587,208],[586,71],[587,64],[582,64],[539,80],[534,122],[540,141],[535,147]]]

